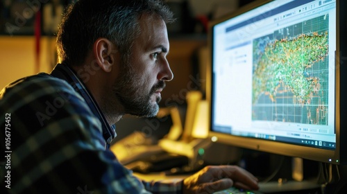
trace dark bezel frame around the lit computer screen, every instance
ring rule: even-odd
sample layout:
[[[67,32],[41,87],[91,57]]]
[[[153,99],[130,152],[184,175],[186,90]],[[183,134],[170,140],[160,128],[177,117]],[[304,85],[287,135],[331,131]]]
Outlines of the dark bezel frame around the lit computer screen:
[[[290,143],[282,143],[277,141],[269,141],[264,139],[254,139],[254,138],[248,138],[244,136],[234,136],[230,134],[223,134],[221,132],[214,132],[212,131],[212,100],[214,98],[213,94],[213,87],[212,87],[212,80],[214,79],[213,71],[212,71],[212,62],[214,60],[213,58],[213,28],[217,24],[221,23],[222,21],[226,21],[227,19],[230,19],[232,17],[236,17],[238,15],[241,15],[242,13],[253,10],[254,8],[257,8],[259,6],[262,6],[266,3],[271,2],[272,0],[258,0],[253,1],[252,3],[249,3],[248,5],[239,8],[235,12],[232,12],[232,14],[227,15],[225,17],[221,17],[219,19],[215,19],[214,21],[210,21],[210,24],[208,26],[208,48],[210,49],[210,62],[208,65],[208,85],[207,87],[207,98],[210,102],[210,117],[209,117],[209,138],[212,141],[217,141],[219,143],[226,143],[228,145],[235,145],[239,148],[247,148],[251,150],[257,150],[262,152],[269,152],[273,154],[278,155],[285,155],[288,157],[300,157],[303,159],[310,159],[313,161],[321,161],[328,164],[347,164],[347,156],[343,153],[346,152],[347,147],[347,132],[345,129],[347,127],[347,120],[344,122],[344,118],[347,118],[346,112],[341,112],[341,110],[347,109],[347,103],[344,103],[340,99],[347,99],[347,91],[345,91],[344,88],[347,85],[347,76],[340,76],[344,73],[347,73],[347,67],[346,65],[346,37],[344,36],[344,33],[347,34],[347,22],[346,22],[346,12],[344,12],[343,9],[347,6],[346,1],[337,0],[337,50],[335,54],[335,65],[336,65],[336,71],[335,71],[335,130],[336,130],[336,149],[335,150],[326,150],[321,148],[313,148],[313,147],[307,147],[303,145],[294,145]],[[344,43],[344,44],[342,44]],[[346,56],[346,59],[344,58]],[[345,138],[344,138],[345,137]],[[343,140],[346,141],[343,141]]]

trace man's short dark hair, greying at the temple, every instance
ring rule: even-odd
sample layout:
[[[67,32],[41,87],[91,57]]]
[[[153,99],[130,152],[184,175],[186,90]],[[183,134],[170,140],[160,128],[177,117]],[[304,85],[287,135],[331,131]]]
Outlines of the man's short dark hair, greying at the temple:
[[[79,0],[71,4],[58,28],[58,61],[81,65],[99,37],[114,42],[121,58],[127,59],[141,33],[143,14],[158,15],[167,24],[174,21],[162,0]]]

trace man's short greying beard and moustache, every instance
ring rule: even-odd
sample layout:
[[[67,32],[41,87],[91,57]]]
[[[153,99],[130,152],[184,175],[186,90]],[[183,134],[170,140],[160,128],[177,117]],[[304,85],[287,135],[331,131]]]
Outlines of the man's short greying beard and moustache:
[[[126,64],[119,73],[119,78],[112,87],[112,94],[117,98],[119,103],[124,107],[125,114],[132,114],[142,117],[154,117],[159,111],[159,101],[161,97],[156,98],[156,103],[151,103],[151,96],[158,89],[165,87],[165,82],[160,80],[157,85],[151,88],[147,93],[146,87],[149,83],[140,82],[141,75],[135,73],[131,68],[131,64]],[[146,94],[147,93],[147,94]]]

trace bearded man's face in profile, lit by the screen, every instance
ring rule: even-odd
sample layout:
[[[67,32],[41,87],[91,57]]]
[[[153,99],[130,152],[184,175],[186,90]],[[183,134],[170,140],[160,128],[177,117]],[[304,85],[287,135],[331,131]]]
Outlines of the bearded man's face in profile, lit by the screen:
[[[169,39],[166,24],[158,17],[143,15],[140,26],[142,33],[112,89],[126,114],[153,117],[158,113],[165,81],[174,78],[166,59]]]

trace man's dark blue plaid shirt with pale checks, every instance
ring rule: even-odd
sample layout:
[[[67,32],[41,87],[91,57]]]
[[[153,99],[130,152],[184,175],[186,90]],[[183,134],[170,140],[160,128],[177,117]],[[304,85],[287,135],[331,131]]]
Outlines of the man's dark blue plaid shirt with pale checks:
[[[0,113],[0,193],[182,193],[181,180],[142,182],[117,161],[115,126],[65,65],[5,87]]]

